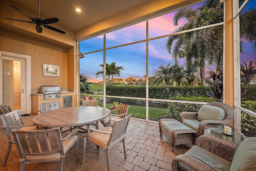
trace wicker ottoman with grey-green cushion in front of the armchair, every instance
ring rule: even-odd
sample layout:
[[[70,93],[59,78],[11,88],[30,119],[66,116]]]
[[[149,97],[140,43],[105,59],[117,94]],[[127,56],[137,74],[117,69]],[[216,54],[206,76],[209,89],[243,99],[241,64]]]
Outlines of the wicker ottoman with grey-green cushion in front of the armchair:
[[[197,133],[190,127],[180,123],[176,119],[159,120],[160,137],[164,135],[168,141],[172,142],[172,151],[175,151],[176,145],[195,144]]]

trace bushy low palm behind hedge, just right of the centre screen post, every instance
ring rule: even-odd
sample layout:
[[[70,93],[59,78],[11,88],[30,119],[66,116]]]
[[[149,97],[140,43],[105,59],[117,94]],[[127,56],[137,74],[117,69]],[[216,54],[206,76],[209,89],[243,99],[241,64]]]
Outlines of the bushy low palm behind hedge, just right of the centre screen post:
[[[166,66],[160,65],[158,69],[159,70],[155,70],[153,72],[153,76],[155,77],[154,84],[161,85],[163,82],[165,82],[168,85],[172,78],[171,62],[169,62]]]

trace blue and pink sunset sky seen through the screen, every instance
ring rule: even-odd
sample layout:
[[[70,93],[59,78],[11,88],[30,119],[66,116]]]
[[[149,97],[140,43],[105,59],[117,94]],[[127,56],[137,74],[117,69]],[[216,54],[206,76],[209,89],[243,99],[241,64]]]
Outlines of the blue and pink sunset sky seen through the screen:
[[[254,6],[255,4],[256,2],[251,0],[246,7]],[[172,12],[150,19],[148,22],[149,38],[172,33],[177,28],[173,26],[172,19],[174,15],[175,12]],[[179,26],[184,22],[185,20],[180,20]],[[173,64],[172,56],[168,54],[165,47],[166,38],[151,40],[148,43],[149,76],[152,76],[153,72],[158,70],[160,65],[166,66],[168,62],[172,62]],[[145,39],[146,21],[106,33],[106,48]],[[103,35],[80,42],[80,52],[82,53],[101,49],[103,49]],[[244,42],[244,52],[241,54],[241,61],[245,60],[248,63],[254,57],[255,54],[252,45]],[[116,62],[116,65],[124,67],[124,71],[120,75],[122,79],[130,76],[143,78],[146,74],[146,42],[106,50],[106,62],[109,64]],[[103,64],[103,51],[87,54],[85,58],[80,59],[80,73],[87,76],[90,82],[102,81],[103,78],[101,75],[98,78],[95,76],[96,72],[102,70],[102,68],[98,67],[99,64]],[[180,64],[182,64],[182,61],[180,61]]]

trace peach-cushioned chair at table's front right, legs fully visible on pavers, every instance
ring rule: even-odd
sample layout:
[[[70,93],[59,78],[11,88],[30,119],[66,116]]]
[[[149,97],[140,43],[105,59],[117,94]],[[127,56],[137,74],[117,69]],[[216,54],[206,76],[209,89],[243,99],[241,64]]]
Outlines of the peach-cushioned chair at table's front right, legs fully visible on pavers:
[[[109,163],[109,151],[112,147],[114,147],[120,141],[123,141],[124,147],[124,158],[126,158],[126,150],[125,150],[125,132],[130,120],[131,114],[125,117],[124,119],[120,119],[118,121],[114,121],[113,127],[103,127],[102,129],[92,129],[88,128],[88,135],[84,137],[84,151],[83,151],[83,159],[82,164],[84,164],[84,157],[86,151],[86,141],[91,141],[96,145],[106,149],[106,158],[108,171],[110,171],[110,163]],[[90,133],[90,130],[92,132]],[[99,151],[97,151],[99,152]]]

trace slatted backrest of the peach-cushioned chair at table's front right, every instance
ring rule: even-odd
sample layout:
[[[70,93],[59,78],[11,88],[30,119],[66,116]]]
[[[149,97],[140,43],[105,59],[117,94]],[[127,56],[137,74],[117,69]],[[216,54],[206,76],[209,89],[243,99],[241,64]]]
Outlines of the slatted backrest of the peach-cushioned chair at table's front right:
[[[108,147],[112,146],[111,143],[117,143],[120,142],[122,139],[124,139],[125,137],[125,131],[128,125],[128,122],[130,120],[132,114],[126,116],[124,119],[120,119],[120,120],[115,120],[114,121],[114,126],[112,129],[112,134],[110,135],[110,139],[108,141]],[[120,141],[116,141],[120,139]]]

